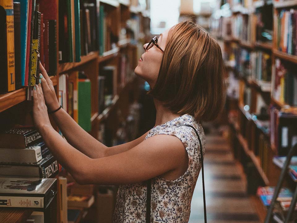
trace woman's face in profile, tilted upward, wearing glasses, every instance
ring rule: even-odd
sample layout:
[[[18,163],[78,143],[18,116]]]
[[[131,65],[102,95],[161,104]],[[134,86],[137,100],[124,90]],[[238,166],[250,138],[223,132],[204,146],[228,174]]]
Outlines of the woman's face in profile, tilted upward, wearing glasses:
[[[161,33],[158,37],[157,44],[161,47],[162,50],[165,50],[166,47],[168,31],[169,29]],[[163,52],[153,43],[151,43],[153,44],[153,47],[151,47],[149,50],[146,50],[145,48],[148,44],[149,43],[143,45],[144,53],[138,60],[138,65],[134,71],[137,76],[143,78],[145,81],[149,83],[151,88],[153,88],[157,81],[157,77],[161,67]]]

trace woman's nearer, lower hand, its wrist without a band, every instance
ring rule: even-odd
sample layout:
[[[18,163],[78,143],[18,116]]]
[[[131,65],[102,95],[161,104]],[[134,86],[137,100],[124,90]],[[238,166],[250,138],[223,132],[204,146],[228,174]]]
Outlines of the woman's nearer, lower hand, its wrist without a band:
[[[47,113],[41,84],[35,85],[33,90],[33,123],[38,132],[46,127],[52,127]]]

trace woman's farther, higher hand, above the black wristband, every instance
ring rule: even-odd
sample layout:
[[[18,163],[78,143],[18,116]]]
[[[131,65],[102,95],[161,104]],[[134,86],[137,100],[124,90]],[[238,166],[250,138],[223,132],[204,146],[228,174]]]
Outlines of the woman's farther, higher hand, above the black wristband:
[[[41,63],[39,63],[39,69],[41,72],[40,82],[42,85],[45,104],[49,111],[54,111],[60,107],[60,103],[58,102],[53,82],[49,79],[49,76]]]

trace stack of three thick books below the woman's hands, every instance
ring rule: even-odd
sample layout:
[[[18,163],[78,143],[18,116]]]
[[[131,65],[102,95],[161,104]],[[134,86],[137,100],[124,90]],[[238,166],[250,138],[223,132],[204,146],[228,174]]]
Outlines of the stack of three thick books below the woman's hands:
[[[0,133],[0,175],[49,178],[59,169],[37,130],[13,128]]]

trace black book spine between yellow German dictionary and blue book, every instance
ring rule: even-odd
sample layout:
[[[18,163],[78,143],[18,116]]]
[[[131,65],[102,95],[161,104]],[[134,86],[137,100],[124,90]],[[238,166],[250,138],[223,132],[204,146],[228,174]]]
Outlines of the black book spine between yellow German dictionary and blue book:
[[[21,19],[20,3],[13,3],[14,29],[15,29],[15,90],[22,87],[21,76]]]

